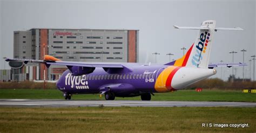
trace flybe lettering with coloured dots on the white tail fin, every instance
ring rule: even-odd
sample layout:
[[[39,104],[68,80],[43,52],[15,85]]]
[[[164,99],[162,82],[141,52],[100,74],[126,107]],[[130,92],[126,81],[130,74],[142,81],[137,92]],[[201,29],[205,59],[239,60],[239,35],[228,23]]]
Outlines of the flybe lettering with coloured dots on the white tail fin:
[[[200,40],[198,44],[196,45],[196,53],[192,57],[192,64],[196,67],[198,67],[200,60],[203,60],[203,54],[206,52],[207,49],[207,43],[210,39],[210,33],[205,32],[200,34]],[[207,37],[206,37],[207,36]]]

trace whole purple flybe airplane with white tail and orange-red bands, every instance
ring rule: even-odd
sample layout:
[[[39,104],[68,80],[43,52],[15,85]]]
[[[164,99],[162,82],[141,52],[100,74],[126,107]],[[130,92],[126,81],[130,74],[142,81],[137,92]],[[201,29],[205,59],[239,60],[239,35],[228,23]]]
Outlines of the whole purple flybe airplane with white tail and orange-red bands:
[[[214,67],[245,66],[245,64],[209,64],[214,31],[242,30],[240,27],[215,27],[215,20],[206,20],[200,27],[180,27],[176,29],[199,30],[199,35],[186,54],[164,65],[140,65],[117,62],[73,62],[61,61],[50,55],[44,60],[6,59],[22,64],[37,63],[62,65],[68,69],[57,81],[57,88],[67,100],[73,94],[100,94],[105,100],[115,97],[140,96],[141,100],[151,100],[154,93],[167,93],[183,89],[194,82],[206,79],[217,71]],[[10,65],[9,62],[9,65]]]

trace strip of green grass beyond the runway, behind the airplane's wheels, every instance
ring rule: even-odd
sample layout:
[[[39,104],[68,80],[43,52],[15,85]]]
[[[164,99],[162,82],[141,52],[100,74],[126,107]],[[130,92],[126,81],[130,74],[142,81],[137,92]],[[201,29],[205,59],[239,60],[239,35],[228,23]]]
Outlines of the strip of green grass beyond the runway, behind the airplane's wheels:
[[[0,99],[60,99],[63,94],[57,89],[0,89]],[[99,94],[73,95],[73,100],[105,100]],[[137,97],[117,97],[117,100],[140,100]],[[155,93],[152,100],[161,101],[240,101],[256,102],[255,93],[242,93],[237,90],[178,90],[172,93]]]

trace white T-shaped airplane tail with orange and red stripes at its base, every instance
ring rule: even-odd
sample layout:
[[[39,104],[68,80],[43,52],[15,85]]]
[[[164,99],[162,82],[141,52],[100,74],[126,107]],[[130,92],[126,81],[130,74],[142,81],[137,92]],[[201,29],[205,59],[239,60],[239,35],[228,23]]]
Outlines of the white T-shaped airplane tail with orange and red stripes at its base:
[[[184,57],[165,65],[208,68],[213,32],[217,30],[242,30],[240,27],[216,28],[215,25],[215,20],[206,20],[200,27],[180,27],[173,25],[176,29],[199,30],[199,35]]]

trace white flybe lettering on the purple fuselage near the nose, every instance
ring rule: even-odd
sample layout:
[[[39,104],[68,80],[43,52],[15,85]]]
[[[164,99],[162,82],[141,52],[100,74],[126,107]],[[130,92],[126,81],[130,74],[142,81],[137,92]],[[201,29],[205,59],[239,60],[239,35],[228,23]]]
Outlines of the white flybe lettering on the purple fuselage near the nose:
[[[76,89],[89,89],[88,81],[86,81],[86,75],[73,76],[71,73],[65,76],[65,85]]]

